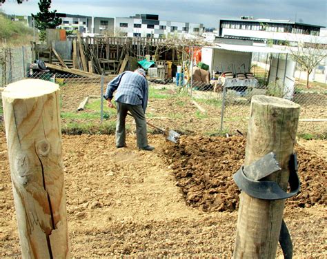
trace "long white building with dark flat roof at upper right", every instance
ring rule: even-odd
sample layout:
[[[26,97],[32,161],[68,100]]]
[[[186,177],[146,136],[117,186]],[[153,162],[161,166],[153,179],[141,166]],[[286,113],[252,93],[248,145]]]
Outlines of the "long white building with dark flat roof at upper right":
[[[324,43],[326,37],[320,36],[321,25],[297,23],[290,20],[254,19],[221,19],[219,21],[219,37],[234,39],[250,39],[283,45],[286,41],[296,45],[297,42]]]

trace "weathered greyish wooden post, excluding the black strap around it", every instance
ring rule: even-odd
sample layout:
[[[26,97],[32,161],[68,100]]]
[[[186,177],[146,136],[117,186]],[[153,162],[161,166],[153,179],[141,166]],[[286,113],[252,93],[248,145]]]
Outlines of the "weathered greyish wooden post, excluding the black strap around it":
[[[293,154],[299,105],[271,96],[252,97],[244,165],[269,152],[281,167],[267,177],[286,191],[290,155]],[[237,235],[233,258],[275,258],[285,200],[260,200],[240,194]]]

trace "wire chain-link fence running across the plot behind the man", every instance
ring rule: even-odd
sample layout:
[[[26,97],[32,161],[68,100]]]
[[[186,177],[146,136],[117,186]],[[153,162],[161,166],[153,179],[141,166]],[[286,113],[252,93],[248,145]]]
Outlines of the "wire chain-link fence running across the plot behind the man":
[[[32,60],[28,48],[1,51],[2,86],[28,78],[52,81],[60,85],[63,132],[114,132],[115,110],[106,107],[101,96],[115,75],[86,77],[64,72],[33,72],[28,65]],[[257,71],[260,69],[254,68]],[[251,72],[255,74],[253,70]],[[300,134],[326,136],[326,85],[316,85],[310,89],[304,85],[290,88],[278,80],[273,83],[267,81],[268,76],[258,78],[250,73],[221,75],[212,80],[193,76],[149,78],[147,117],[156,125],[168,126],[184,134],[246,134],[251,97],[265,94],[290,99],[301,105]],[[1,105],[2,102],[2,118]]]

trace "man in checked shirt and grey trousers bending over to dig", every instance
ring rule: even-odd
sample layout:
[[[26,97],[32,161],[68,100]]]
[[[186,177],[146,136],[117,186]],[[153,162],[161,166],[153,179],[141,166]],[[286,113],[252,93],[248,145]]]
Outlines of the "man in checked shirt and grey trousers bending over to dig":
[[[117,106],[116,147],[126,147],[126,116],[130,112],[135,119],[137,127],[137,146],[139,149],[152,151],[155,147],[148,145],[146,134],[146,106],[148,105],[148,81],[146,72],[139,68],[134,72],[126,71],[107,85],[106,94],[103,96],[108,101],[108,107],[114,108],[112,96],[115,94]]]

